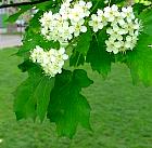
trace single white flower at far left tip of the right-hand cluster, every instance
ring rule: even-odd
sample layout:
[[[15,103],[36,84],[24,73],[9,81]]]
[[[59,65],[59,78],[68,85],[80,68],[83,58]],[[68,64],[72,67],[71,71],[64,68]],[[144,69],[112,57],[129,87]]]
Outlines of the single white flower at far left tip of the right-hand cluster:
[[[91,15],[91,21],[89,21],[89,26],[93,27],[94,32],[103,28],[102,22],[99,19],[99,17],[96,14]]]

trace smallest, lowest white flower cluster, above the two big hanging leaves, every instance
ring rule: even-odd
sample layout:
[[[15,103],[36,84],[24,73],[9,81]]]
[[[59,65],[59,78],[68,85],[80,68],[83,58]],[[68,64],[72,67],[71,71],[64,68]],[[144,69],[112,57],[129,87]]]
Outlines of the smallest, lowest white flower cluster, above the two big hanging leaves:
[[[51,49],[45,52],[43,49],[37,45],[36,49],[30,52],[30,59],[34,63],[38,63],[42,67],[45,73],[50,77],[62,72],[64,60],[67,58],[68,55],[65,54],[64,48],[60,50]]]

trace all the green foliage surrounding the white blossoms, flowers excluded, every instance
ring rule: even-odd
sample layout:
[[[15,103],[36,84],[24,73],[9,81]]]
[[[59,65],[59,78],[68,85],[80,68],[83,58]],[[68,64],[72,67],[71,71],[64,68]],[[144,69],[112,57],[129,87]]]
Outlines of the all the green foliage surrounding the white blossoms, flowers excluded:
[[[115,2],[121,3],[122,6],[126,4],[124,0],[111,1],[107,4],[104,4],[103,1],[92,2],[94,5],[92,12]],[[39,11],[31,17],[23,39],[23,46],[17,52],[17,55],[23,56],[25,60],[20,65],[20,68],[28,71],[29,77],[15,92],[14,110],[17,119],[33,117],[36,120],[39,117],[43,121],[48,115],[47,118],[51,122],[55,122],[59,135],[72,138],[78,123],[91,129],[89,123],[90,107],[86,97],[80,94],[80,91],[83,88],[89,86],[92,81],[83,69],[84,67],[81,69],[77,68],[79,65],[89,63],[92,70],[106,78],[111,71],[112,63],[122,62],[130,69],[134,83],[152,84],[152,9],[149,5],[140,12],[140,4],[136,4],[136,17],[141,19],[143,28],[134,51],[128,51],[126,54],[110,54],[105,51],[104,42],[107,38],[105,30],[94,33],[88,29],[86,33],[81,33],[79,37],[71,40],[66,46],[71,54],[69,65],[74,66],[74,69],[63,70],[55,78],[49,78],[43,76],[38,65],[28,63],[28,59],[30,50],[36,45],[40,45],[46,50],[50,48],[59,49],[59,42],[47,41],[40,35],[39,18],[49,10],[58,12],[60,4],[60,1],[49,1],[35,5]],[[21,8],[20,12],[11,16],[9,21],[15,21],[18,15],[29,9],[31,6]]]

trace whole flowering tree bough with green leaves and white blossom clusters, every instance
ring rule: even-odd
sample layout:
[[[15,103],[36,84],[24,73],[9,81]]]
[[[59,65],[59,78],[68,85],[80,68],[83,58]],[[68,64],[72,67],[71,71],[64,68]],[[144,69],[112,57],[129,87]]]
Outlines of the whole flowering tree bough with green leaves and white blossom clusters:
[[[78,124],[91,130],[91,108],[81,94],[93,83],[83,68],[86,63],[104,79],[112,63],[124,63],[134,84],[152,84],[150,1],[31,0],[4,6],[20,8],[10,22],[36,10],[16,53],[24,58],[18,68],[28,72],[14,93],[17,120],[42,122],[47,117],[60,136],[69,138]]]

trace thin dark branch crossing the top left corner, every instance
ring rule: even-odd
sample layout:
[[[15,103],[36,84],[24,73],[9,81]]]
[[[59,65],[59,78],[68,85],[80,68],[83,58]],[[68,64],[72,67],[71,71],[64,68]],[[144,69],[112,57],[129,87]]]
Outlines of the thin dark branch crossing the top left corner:
[[[42,3],[46,1],[49,1],[49,0],[37,0],[37,1],[33,1],[33,2],[20,2],[20,3],[2,4],[2,5],[0,5],[0,9],[17,8],[17,6],[22,6],[22,5],[34,5],[34,4]]]

